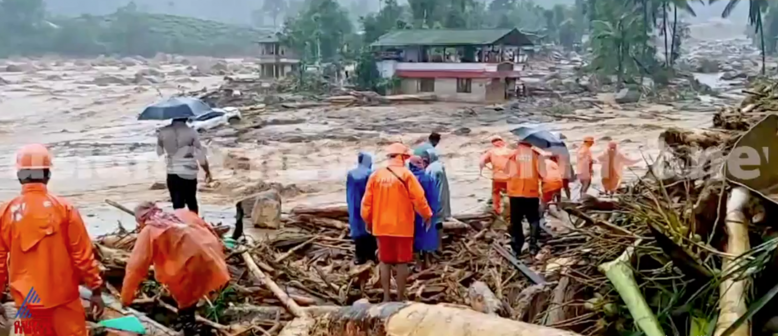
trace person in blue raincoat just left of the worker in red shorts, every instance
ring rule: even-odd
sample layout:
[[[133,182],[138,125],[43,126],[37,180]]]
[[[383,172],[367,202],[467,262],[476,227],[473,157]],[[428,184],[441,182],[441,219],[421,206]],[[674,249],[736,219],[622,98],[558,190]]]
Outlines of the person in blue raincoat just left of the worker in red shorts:
[[[376,237],[367,232],[362,219],[362,198],[365,195],[367,180],[373,173],[373,156],[359,152],[356,168],[349,170],[345,180],[346,203],[349,206],[349,228],[354,240],[354,264],[364,264],[376,259]]]

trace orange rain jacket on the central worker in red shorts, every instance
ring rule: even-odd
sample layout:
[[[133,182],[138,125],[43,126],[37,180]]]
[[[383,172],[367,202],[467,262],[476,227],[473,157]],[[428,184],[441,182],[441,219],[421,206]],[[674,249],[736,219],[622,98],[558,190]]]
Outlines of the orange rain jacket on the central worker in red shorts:
[[[422,185],[402,159],[390,159],[389,166],[370,175],[362,198],[362,218],[373,236],[412,237],[414,208],[424,219],[433,216]]]

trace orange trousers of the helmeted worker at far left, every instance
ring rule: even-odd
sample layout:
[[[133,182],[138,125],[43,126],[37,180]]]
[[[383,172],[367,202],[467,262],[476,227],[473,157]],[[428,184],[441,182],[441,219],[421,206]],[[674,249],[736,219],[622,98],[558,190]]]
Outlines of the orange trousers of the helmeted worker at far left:
[[[35,309],[30,307],[30,314],[33,318],[39,316],[41,320],[47,320],[45,323],[54,327],[54,335],[56,336],[86,336],[86,313],[81,299],[75,299],[54,308]],[[17,318],[16,320],[23,321],[25,319]],[[51,324],[48,321],[51,321]],[[17,335],[35,335],[25,334],[23,331],[16,332],[13,325],[11,331],[11,334]],[[45,336],[51,336],[51,334]]]

